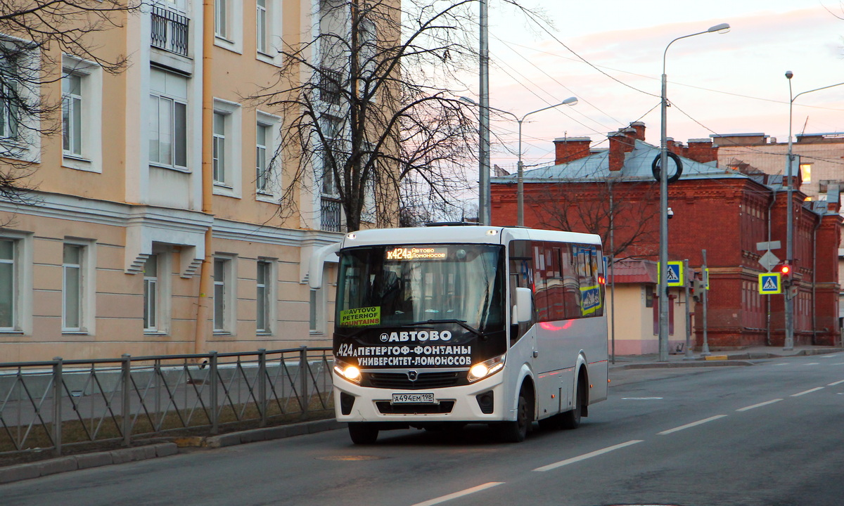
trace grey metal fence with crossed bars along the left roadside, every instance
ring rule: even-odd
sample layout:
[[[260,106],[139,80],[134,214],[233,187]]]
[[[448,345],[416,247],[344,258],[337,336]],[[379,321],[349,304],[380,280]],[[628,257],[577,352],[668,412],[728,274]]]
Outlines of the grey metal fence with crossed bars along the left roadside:
[[[331,348],[0,363],[0,456],[216,434],[333,409]]]

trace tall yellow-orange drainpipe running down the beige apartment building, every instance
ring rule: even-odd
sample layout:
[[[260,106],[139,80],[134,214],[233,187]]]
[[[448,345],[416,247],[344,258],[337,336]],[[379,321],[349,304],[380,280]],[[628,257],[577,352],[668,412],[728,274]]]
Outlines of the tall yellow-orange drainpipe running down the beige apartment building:
[[[214,95],[211,93],[211,51],[214,49],[214,0],[203,0],[203,213],[213,214],[213,138],[214,126]],[[213,223],[213,222],[212,222]],[[206,336],[208,336],[208,318],[211,307],[208,304],[208,292],[211,290],[211,274],[214,269],[212,262],[214,225],[205,231],[205,256],[199,270],[199,293],[197,294],[197,321],[193,337],[193,353],[205,353]]]

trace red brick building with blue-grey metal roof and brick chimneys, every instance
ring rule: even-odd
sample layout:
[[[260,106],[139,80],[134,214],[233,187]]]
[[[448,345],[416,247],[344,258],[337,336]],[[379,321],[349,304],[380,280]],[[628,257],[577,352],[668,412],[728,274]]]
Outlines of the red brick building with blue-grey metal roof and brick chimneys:
[[[609,254],[610,244],[614,245],[616,259],[656,261],[659,186],[652,175],[652,160],[659,148],[644,142],[641,122],[608,137],[609,148],[603,149],[590,148],[589,137],[556,139],[555,165],[524,172],[525,224],[601,234],[605,252]],[[668,257],[669,261],[688,259],[696,267],[703,260],[701,250],[706,250],[709,346],[782,346],[784,299],[760,295],[758,276],[766,270],[759,260],[765,251],[756,248],[759,242],[778,240],[782,248],[772,253],[785,258],[787,192],[782,175],[718,167],[717,146],[711,139],[691,139],[686,145],[669,140],[668,146],[683,165],[682,177],[668,187],[668,206],[674,213],[668,222]],[[826,202],[803,202],[799,178],[793,183],[798,285],[794,342],[838,344],[838,190],[830,188],[834,195]],[[516,189],[516,175],[491,179],[493,224],[516,224]],[[672,304],[678,301],[673,298]],[[697,320],[695,315],[700,346]],[[680,342],[684,336],[672,339]]]

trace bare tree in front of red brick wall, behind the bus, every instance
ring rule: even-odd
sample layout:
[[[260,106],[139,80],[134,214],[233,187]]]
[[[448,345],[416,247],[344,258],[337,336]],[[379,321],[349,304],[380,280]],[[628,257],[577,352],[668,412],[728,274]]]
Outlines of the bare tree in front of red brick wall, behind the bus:
[[[531,192],[525,197],[541,226],[598,234],[606,254],[616,259],[655,254],[658,200],[656,183],[612,176],[560,180],[541,194]]]

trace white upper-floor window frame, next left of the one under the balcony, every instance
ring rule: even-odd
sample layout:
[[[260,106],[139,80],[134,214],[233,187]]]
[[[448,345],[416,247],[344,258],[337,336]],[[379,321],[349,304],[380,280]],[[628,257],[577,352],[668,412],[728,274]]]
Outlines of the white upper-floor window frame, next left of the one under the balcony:
[[[82,145],[79,153],[64,148],[62,136],[62,166],[75,170],[102,173],[102,68],[92,62],[75,57],[62,57],[62,120],[66,106],[63,92],[64,82],[70,77],[79,78],[81,92],[78,94]],[[65,127],[62,121],[62,129]],[[63,133],[63,132],[62,132]]]

